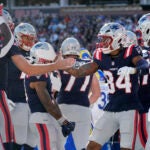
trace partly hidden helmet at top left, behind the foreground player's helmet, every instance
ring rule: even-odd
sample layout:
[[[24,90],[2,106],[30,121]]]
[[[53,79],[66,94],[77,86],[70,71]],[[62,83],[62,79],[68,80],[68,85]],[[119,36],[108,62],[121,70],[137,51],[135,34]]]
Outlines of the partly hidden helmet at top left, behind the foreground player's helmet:
[[[8,26],[10,27],[11,31],[13,31],[14,30],[13,19],[12,19],[10,13],[7,10],[5,10],[5,9],[3,9],[3,17],[4,17],[5,21],[6,21],[6,23],[8,24]]]

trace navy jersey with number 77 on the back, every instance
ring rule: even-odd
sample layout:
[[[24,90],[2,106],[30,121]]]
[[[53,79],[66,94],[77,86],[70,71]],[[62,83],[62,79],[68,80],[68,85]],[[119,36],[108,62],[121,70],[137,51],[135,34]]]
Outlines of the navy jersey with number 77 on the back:
[[[89,90],[92,75],[75,78],[65,71],[60,71],[62,86],[57,96],[59,104],[75,104],[89,107]]]

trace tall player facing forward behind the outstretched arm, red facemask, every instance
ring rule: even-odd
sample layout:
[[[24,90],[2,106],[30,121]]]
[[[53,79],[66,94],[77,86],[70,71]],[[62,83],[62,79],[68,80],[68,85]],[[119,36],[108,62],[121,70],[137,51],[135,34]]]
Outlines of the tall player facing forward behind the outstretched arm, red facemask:
[[[14,29],[14,37],[18,50],[22,56],[28,59],[30,49],[37,41],[35,28],[29,23],[20,23]],[[25,97],[24,77],[24,72],[19,70],[10,59],[8,61],[9,84],[6,93],[7,97],[15,103],[15,107],[11,111],[16,139],[14,148],[21,150],[22,145],[24,145],[24,150],[32,150],[35,147],[35,142],[28,127],[30,112]]]

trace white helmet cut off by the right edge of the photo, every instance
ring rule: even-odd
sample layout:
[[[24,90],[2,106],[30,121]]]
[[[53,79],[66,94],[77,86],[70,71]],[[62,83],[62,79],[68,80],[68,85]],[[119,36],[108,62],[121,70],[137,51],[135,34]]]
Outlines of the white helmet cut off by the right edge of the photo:
[[[138,20],[137,30],[141,32],[142,39],[144,40],[145,46],[148,46],[148,43],[150,41],[150,13],[143,15]]]

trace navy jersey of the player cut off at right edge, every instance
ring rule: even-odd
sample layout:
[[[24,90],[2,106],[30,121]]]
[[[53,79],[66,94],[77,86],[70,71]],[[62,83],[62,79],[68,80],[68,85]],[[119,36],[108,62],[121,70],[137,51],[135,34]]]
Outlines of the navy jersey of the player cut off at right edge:
[[[150,51],[142,51],[143,58],[147,61],[150,61]],[[141,103],[144,107],[143,112],[148,112],[150,107],[150,68],[147,69],[147,72],[140,74],[140,88],[139,88],[139,97]]]

